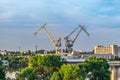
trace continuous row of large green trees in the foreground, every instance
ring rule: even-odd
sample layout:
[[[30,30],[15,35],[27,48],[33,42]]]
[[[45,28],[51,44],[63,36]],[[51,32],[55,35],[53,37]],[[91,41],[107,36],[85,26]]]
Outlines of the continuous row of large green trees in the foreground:
[[[56,55],[36,55],[20,72],[28,80],[110,80],[105,59],[91,57],[82,64],[67,64]],[[19,80],[19,79],[18,79]]]

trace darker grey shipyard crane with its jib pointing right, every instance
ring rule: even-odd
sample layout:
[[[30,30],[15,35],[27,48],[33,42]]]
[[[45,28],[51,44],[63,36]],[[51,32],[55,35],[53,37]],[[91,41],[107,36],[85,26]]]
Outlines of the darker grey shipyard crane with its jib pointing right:
[[[78,30],[78,33],[76,34],[76,36],[73,38],[73,40],[71,40],[70,36],[76,31]],[[83,25],[79,25],[77,28],[75,28],[68,36],[64,37],[65,40],[65,47],[66,47],[66,52],[72,52],[73,51],[73,44],[75,43],[76,39],[78,38],[79,34],[81,31],[84,31],[88,36],[89,33],[86,31],[86,29],[84,28]]]

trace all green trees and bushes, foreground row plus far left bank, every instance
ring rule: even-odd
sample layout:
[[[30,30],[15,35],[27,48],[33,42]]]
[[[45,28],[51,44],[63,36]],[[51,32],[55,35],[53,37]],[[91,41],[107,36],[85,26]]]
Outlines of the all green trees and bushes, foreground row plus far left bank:
[[[91,57],[82,64],[66,64],[60,56],[39,54],[44,54],[44,51],[40,50],[36,54],[30,50],[27,53],[16,52],[1,56],[1,59],[8,60],[10,66],[26,67],[21,70],[18,80],[23,77],[28,80],[110,80],[109,64],[105,59]],[[28,59],[28,56],[32,58]],[[0,78],[5,79],[2,66]]]

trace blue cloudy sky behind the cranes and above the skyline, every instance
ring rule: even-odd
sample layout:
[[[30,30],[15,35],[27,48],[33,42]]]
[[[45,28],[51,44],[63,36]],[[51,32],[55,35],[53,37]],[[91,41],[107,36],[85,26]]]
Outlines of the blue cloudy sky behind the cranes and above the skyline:
[[[62,36],[84,25],[74,50],[92,51],[95,45],[120,46],[120,0],[0,0],[0,50],[52,50],[54,46],[41,30],[47,23]],[[53,34],[52,30],[48,31]],[[77,31],[71,36],[75,36]],[[62,48],[65,47],[64,41]]]

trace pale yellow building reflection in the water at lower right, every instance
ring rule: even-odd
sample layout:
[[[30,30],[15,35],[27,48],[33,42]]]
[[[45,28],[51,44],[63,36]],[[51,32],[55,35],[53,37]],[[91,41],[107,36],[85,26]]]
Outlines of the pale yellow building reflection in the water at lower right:
[[[111,80],[120,80],[120,66],[111,66]]]

